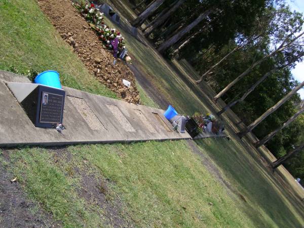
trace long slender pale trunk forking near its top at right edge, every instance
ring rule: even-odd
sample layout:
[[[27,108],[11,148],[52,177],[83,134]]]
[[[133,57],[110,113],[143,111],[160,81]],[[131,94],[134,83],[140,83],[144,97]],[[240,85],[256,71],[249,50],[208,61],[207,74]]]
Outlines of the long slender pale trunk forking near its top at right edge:
[[[250,67],[248,67],[243,73],[241,73],[238,78],[236,78],[234,81],[232,81],[230,84],[228,84],[222,91],[220,91],[213,99],[214,101],[217,101],[218,98],[220,98],[224,93],[226,93],[231,87],[233,87],[237,82],[239,82],[242,78],[244,78],[255,66],[263,62],[265,59],[274,56],[277,52],[283,51],[284,49],[288,48],[295,40],[297,40],[300,36],[303,35],[304,32],[301,32],[297,36],[294,37],[290,42],[288,42],[286,45],[287,39],[290,38],[292,34],[289,34],[286,39],[281,43],[281,45],[276,48],[272,53],[265,55],[263,58],[259,59],[255,63],[253,63]]]

